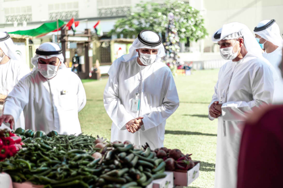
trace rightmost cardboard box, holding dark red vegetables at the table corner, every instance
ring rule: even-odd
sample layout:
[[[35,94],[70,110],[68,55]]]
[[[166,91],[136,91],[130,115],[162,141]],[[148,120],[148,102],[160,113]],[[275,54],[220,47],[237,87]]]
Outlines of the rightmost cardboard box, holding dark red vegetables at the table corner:
[[[200,163],[196,164],[192,169],[187,172],[174,171],[174,185],[176,186],[188,186],[196,178],[198,178],[200,172]]]

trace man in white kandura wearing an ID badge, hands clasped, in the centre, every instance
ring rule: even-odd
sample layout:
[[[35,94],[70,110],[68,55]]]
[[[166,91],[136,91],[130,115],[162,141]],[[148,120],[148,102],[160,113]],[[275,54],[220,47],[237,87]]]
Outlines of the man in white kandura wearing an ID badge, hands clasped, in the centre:
[[[111,141],[163,146],[166,119],[179,106],[179,97],[161,37],[143,30],[129,54],[116,59],[108,72],[104,107],[112,123]]]

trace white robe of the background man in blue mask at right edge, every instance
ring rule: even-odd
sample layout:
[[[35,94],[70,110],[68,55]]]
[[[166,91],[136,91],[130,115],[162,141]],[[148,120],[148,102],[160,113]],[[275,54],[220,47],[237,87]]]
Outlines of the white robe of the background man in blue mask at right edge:
[[[282,48],[278,47],[275,51],[271,53],[264,52],[262,54],[265,59],[267,59],[271,65],[276,70],[276,73],[278,75],[278,79],[274,82],[274,94],[273,94],[273,104],[282,104],[283,103],[283,79],[281,76],[281,71],[279,69],[279,64],[282,60]]]

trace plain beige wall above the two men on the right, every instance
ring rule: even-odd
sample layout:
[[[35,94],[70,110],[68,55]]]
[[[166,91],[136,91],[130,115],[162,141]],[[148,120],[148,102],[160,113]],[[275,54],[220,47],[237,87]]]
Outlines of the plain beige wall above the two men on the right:
[[[203,0],[205,27],[209,33],[205,47],[212,46],[211,36],[225,23],[240,22],[253,32],[264,19],[275,19],[283,33],[283,0]]]

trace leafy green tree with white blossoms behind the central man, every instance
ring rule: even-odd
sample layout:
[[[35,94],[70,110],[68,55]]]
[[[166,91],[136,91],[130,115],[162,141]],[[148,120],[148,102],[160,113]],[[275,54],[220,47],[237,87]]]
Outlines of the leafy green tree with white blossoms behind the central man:
[[[123,34],[124,37],[132,38],[133,35],[137,36],[144,29],[162,33],[167,37],[166,43],[164,43],[167,54],[170,48],[175,49],[174,59],[178,59],[176,56],[179,49],[176,45],[179,46],[179,42],[186,43],[187,38],[190,41],[198,41],[207,36],[200,11],[183,1],[166,0],[164,4],[136,4],[136,9],[140,11],[117,20],[109,34]],[[173,20],[170,20],[169,13],[173,14]],[[172,32],[172,27],[170,29],[170,25],[173,25],[174,32]],[[174,39],[172,39],[172,34]],[[170,54],[171,52],[169,52]]]

